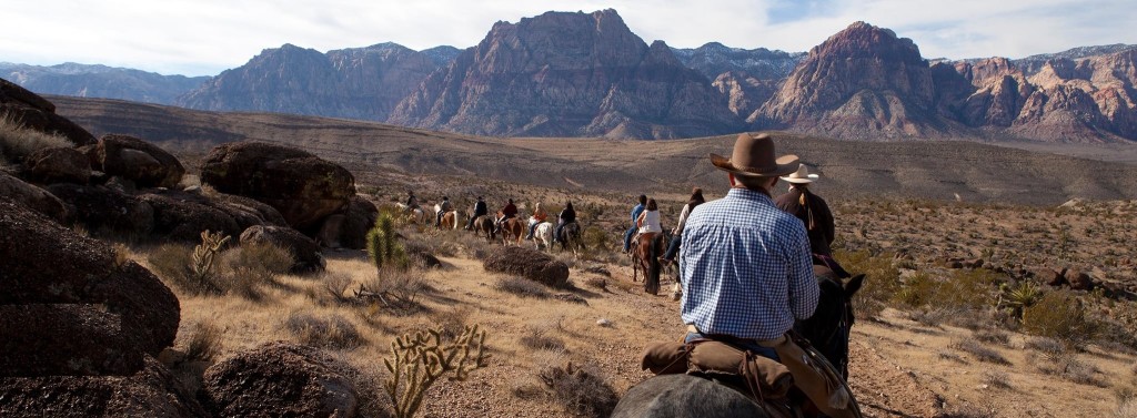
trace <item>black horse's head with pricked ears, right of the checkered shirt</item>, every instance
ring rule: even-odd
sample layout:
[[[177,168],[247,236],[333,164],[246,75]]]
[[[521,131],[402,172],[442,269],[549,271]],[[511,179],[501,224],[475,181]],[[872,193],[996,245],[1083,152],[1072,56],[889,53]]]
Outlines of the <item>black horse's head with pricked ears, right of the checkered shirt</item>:
[[[794,325],[841,373],[848,377],[849,331],[853,327],[853,295],[861,290],[865,275],[848,281],[822,266],[814,266],[821,294],[813,316]]]

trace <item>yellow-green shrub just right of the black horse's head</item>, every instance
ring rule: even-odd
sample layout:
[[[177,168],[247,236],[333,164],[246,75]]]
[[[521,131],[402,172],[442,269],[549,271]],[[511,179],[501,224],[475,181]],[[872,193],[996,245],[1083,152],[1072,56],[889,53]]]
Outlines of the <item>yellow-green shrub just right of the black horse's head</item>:
[[[901,289],[901,273],[893,264],[891,253],[837,250],[833,258],[849,273],[868,276],[864,286],[853,298],[853,309],[858,316],[879,316]]]

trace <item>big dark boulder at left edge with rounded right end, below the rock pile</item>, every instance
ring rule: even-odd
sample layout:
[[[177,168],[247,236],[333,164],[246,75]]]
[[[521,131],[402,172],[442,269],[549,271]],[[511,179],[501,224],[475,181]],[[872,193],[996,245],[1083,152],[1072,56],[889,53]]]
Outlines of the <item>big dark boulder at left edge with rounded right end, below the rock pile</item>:
[[[177,298],[149,270],[0,197],[0,304],[38,303],[99,306],[149,354],[174,343],[181,317]]]

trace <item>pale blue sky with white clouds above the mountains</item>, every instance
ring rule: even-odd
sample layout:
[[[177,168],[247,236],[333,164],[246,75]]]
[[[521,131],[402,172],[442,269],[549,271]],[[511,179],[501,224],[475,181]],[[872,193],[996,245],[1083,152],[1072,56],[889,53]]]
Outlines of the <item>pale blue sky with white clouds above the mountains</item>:
[[[478,44],[496,22],[615,9],[645,42],[804,52],[863,20],[924,58],[1137,44],[1134,0],[0,0],[0,61],[216,75],[285,43],[321,52]]]

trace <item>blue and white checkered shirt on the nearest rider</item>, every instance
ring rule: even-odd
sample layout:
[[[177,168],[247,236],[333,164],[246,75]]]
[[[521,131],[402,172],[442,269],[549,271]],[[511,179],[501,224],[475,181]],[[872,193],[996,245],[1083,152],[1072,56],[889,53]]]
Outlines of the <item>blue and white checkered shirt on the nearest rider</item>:
[[[731,189],[687,218],[682,319],[704,334],[772,340],[818,307],[810,239],[770,197]]]

